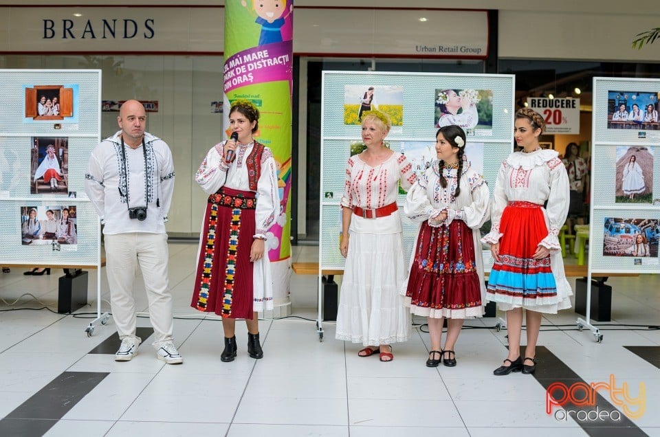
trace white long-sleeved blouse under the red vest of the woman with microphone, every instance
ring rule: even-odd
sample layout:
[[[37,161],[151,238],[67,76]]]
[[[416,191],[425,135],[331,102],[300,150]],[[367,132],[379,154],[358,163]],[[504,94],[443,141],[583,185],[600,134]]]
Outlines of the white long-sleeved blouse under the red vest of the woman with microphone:
[[[226,142],[226,141],[225,141]],[[195,181],[204,192],[214,194],[220,188],[250,191],[248,182],[248,158],[254,148],[250,144],[238,144],[236,158],[228,166],[223,158],[225,142],[213,146],[201,162],[195,174]],[[256,184],[256,235],[265,237],[268,229],[275,223],[280,214],[280,199],[277,187],[277,165],[270,148],[264,148],[261,155],[261,176]]]

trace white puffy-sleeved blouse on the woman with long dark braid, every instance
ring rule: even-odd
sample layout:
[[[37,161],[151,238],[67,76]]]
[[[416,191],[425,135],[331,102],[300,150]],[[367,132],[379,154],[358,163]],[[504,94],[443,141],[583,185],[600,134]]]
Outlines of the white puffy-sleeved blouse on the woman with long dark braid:
[[[490,193],[486,181],[476,172],[463,156],[461,191],[459,197],[452,194],[456,190],[457,168],[443,168],[447,186],[440,183],[439,161],[434,161],[424,174],[417,179],[406,197],[404,212],[412,221],[426,221],[443,210],[447,210],[446,225],[454,220],[462,220],[471,229],[479,229],[489,219]],[[441,226],[443,223],[432,227]]]

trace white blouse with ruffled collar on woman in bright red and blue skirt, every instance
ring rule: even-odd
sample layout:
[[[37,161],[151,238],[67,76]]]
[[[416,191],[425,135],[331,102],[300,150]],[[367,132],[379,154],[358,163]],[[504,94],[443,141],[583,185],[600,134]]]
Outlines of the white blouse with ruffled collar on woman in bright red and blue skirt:
[[[498,243],[500,219],[510,201],[543,205],[547,215],[548,236],[539,245],[560,250],[559,229],[569,213],[569,177],[555,150],[511,153],[502,163],[493,190],[492,227],[482,238],[484,243]]]

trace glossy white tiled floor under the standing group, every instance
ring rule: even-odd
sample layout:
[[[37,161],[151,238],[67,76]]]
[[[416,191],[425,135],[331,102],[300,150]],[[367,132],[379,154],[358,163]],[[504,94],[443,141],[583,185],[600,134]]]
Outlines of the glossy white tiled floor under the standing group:
[[[87,337],[89,320],[83,318],[47,310],[5,311],[0,313],[0,416],[61,372],[109,372],[47,436],[586,435],[575,421],[556,421],[545,413],[545,390],[533,377],[493,376],[506,356],[506,332],[493,328],[496,319],[466,322],[474,328],[461,333],[455,368],[424,366],[429,339],[417,327],[410,341],[394,345],[394,361],[381,363],[376,357],[358,357],[361,345],[335,340],[333,322],[323,323],[325,340],[319,341],[314,276],[291,278],[293,314],[309,320],[261,322],[261,360],[248,357],[245,324],[239,323],[239,355],[222,363],[220,322],[189,306],[196,250],[195,244],[170,244],[175,342],[183,365],[166,366],[149,344],[140,346],[129,363],[89,354],[113,333],[112,323],[98,325]],[[292,261],[316,261],[317,250],[294,247]],[[61,271],[41,277],[22,272],[12,269],[0,276],[0,298],[13,302],[20,297],[0,309],[56,309]],[[611,324],[660,324],[659,283],[654,276],[611,279]],[[144,289],[141,278],[135,284]],[[95,313],[95,271],[89,272],[89,287],[91,306],[84,311]],[[104,271],[102,290],[102,308],[109,311]],[[146,298],[139,295],[144,310]],[[597,344],[588,330],[575,330],[576,319],[572,310],[544,317],[539,344],[587,382],[607,381],[615,374],[633,396],[644,383],[646,414],[634,422],[649,436],[660,436],[660,372],[623,347],[660,346],[660,331],[603,328],[604,341]],[[147,318],[140,318],[139,325],[150,326]],[[608,435],[625,436],[626,431]]]

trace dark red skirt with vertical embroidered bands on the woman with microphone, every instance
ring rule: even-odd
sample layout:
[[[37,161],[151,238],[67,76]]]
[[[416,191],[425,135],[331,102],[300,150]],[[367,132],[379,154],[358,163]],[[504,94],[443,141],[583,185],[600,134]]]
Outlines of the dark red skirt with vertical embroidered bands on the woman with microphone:
[[[192,308],[230,319],[252,319],[254,208],[251,191],[221,188],[208,197]]]

